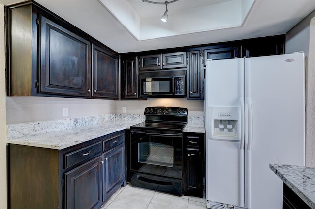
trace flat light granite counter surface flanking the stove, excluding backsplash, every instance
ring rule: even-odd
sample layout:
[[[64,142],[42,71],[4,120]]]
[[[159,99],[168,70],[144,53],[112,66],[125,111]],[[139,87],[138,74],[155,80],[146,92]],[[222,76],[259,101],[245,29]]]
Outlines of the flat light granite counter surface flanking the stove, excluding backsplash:
[[[62,150],[101,136],[129,129],[143,121],[109,121],[60,131],[51,131],[7,140],[9,144],[27,145]],[[188,123],[184,132],[205,133],[204,124]]]

